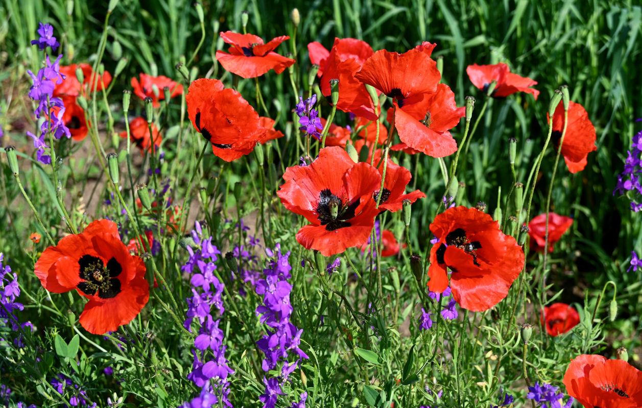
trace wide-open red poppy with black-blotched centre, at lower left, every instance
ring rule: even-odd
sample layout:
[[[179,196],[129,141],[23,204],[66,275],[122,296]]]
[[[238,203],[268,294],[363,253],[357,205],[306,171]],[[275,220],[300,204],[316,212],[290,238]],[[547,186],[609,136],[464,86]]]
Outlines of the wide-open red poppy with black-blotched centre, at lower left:
[[[132,321],[150,297],[145,264],[130,255],[114,221],[99,219],[80,234],[67,235],[49,246],[35,265],[35,274],[49,292],[76,289],[89,300],[80,324],[104,334]]]

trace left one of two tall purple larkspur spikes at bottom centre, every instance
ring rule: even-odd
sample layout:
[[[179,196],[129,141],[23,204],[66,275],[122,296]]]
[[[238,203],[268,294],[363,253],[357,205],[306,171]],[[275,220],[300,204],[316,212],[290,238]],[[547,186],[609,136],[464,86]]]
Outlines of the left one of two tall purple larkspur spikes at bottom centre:
[[[218,260],[216,255],[220,255],[220,251],[212,244],[211,236],[204,239],[198,222],[191,235],[197,247],[193,250],[187,246],[189,259],[180,268],[192,274],[192,296],[187,298],[187,319],[184,325],[191,332],[192,322],[198,319],[200,329],[194,341],[198,351],[192,350],[194,362],[187,379],[192,380],[196,386],[203,387],[203,390],[200,396],[183,406],[211,407],[220,401],[227,407],[232,407],[227,398],[230,393],[227,376],[234,373],[234,370],[227,365],[228,361],[225,359],[226,346],[223,346],[223,330],[219,328],[220,319],[214,319],[211,314],[213,307],[218,309],[219,316],[225,312],[222,298],[225,286],[214,275],[214,262]],[[214,358],[206,361],[208,350],[213,353]]]

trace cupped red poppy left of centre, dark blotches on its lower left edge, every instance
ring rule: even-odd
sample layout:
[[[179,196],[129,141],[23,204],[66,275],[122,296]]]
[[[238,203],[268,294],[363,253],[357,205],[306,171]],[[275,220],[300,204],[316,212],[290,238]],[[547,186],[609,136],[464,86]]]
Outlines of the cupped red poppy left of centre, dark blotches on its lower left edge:
[[[214,155],[227,162],[249,154],[257,142],[268,140],[268,129],[261,127],[259,114],[239,92],[225,89],[219,80],[193,81],[186,100],[189,120],[212,143]]]

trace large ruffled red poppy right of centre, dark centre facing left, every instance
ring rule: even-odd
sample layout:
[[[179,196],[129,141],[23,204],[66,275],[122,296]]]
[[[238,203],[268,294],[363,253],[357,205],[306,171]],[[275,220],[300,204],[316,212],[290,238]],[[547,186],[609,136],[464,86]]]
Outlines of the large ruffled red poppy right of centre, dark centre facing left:
[[[499,303],[524,268],[521,246],[476,208],[448,208],[430,230],[438,242],[430,251],[428,288],[446,290],[449,268],[453,297],[464,309],[482,312]]]

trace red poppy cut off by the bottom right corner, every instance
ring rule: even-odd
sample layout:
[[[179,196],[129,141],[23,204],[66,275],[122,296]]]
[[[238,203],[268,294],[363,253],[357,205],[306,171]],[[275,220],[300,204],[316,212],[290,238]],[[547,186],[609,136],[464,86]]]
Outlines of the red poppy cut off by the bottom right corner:
[[[578,355],[566,369],[564,385],[586,408],[642,407],[642,371],[623,360]]]

